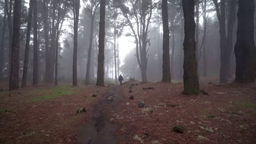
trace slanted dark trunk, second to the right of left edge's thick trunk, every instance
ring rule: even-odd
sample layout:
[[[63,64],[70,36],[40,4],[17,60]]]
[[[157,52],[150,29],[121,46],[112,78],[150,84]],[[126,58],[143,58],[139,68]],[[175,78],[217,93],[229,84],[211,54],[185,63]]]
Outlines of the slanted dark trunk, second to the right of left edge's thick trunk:
[[[25,48],[25,57],[24,57],[21,88],[27,87],[27,67],[28,67],[28,56],[30,53],[31,19],[32,19],[33,6],[34,6],[33,2],[34,2],[33,0],[30,0],[30,8],[28,10],[26,48]]]

